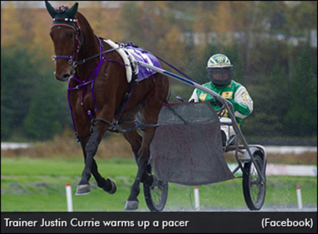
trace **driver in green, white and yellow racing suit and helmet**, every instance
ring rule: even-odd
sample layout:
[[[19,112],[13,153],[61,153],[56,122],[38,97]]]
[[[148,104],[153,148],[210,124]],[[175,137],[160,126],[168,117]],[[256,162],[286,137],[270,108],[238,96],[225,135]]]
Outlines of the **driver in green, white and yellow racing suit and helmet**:
[[[253,100],[243,85],[232,80],[233,65],[231,64],[231,61],[224,54],[214,54],[208,60],[207,70],[208,78],[211,81],[202,86],[211,89],[233,104],[235,120],[240,127],[242,120],[249,116],[253,111]],[[200,89],[194,89],[189,101],[211,101],[211,105],[216,111],[221,109],[220,103],[216,102],[210,94]],[[230,115],[227,113],[227,110],[225,110],[225,113],[222,111],[220,115],[222,116],[220,118],[222,145],[225,146],[233,143],[235,132],[232,126],[222,124],[231,123]]]

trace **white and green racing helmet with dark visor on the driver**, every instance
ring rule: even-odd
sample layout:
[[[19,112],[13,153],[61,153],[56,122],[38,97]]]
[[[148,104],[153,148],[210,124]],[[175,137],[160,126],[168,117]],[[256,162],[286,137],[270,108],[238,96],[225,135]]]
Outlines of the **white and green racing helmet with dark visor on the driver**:
[[[208,77],[213,84],[218,86],[227,85],[233,77],[233,65],[224,54],[212,55],[207,64]]]

